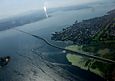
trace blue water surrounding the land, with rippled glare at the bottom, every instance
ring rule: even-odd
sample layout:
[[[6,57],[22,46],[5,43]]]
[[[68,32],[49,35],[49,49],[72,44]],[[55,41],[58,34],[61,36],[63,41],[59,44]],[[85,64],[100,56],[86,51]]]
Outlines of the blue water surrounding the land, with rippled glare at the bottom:
[[[11,56],[8,66],[0,69],[0,81],[89,81],[93,78],[99,81],[99,77],[92,75],[93,78],[91,78],[88,76],[91,75],[90,73],[87,74],[80,68],[77,68],[76,74],[62,68],[60,63],[69,64],[62,50],[15,30],[36,34],[52,44],[64,47],[65,43],[50,40],[52,32],[60,31],[72,25],[76,20],[99,17],[115,9],[114,3],[100,3],[91,7],[51,13],[51,17],[39,22],[0,32],[0,56]],[[82,73],[86,75],[83,76]]]

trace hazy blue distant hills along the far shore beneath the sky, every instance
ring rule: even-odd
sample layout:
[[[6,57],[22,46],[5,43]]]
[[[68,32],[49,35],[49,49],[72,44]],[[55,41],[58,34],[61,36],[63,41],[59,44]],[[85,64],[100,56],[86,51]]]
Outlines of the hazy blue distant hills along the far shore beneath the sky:
[[[85,9],[85,8],[91,8],[88,5],[73,5],[73,6],[67,6],[67,7],[58,7],[58,8],[50,8],[47,10],[47,13],[49,17],[51,17],[51,13],[58,12],[58,11],[71,11],[71,10],[79,10],[79,9]],[[11,29],[17,26],[22,26],[25,24],[30,24],[42,19],[45,19],[45,12],[44,10],[37,10],[37,11],[31,11],[31,12],[25,12],[24,14],[17,15],[10,18],[5,18],[0,20],[0,31]]]

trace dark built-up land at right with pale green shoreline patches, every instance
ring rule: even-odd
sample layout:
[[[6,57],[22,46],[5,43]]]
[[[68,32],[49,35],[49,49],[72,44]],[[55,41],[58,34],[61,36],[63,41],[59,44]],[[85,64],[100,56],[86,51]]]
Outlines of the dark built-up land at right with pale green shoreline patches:
[[[72,26],[52,34],[52,40],[71,41],[66,49],[86,52],[95,56],[115,61],[115,10],[92,19],[76,21]],[[108,81],[115,81],[115,64],[104,63],[95,59],[67,54],[72,65],[91,71]]]

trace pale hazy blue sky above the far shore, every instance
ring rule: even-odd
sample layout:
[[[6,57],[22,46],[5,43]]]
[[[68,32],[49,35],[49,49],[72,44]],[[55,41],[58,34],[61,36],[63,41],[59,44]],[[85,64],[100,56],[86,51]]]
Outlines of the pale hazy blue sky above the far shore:
[[[13,15],[26,13],[27,11],[48,8],[80,5],[100,0],[0,0],[0,19]]]

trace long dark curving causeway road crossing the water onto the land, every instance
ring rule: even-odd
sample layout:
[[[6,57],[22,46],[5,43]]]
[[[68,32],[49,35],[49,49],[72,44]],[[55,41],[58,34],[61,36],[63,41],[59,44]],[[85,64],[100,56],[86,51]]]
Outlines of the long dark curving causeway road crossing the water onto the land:
[[[80,55],[80,56],[85,56],[85,57],[88,57],[88,58],[93,58],[93,59],[96,59],[96,60],[98,60],[98,61],[115,64],[115,61],[113,61],[113,60],[106,59],[106,58],[102,58],[102,57],[98,57],[98,56],[94,56],[95,54],[90,54],[90,53],[88,53],[88,52],[87,52],[87,53],[85,53],[85,52],[83,53],[83,52],[75,52],[75,51],[72,51],[72,50],[68,50],[68,49],[65,49],[65,48],[62,48],[62,47],[58,47],[58,46],[56,46],[56,45],[53,45],[53,44],[49,43],[46,39],[44,39],[44,38],[42,38],[42,37],[40,37],[40,36],[37,36],[37,35],[31,34],[31,33],[25,32],[25,31],[23,31],[23,30],[17,30],[17,29],[16,29],[16,31],[19,31],[19,32],[22,32],[22,33],[26,33],[26,34],[28,34],[28,35],[30,35],[30,36],[33,36],[33,37],[37,38],[37,39],[43,40],[46,44],[48,44],[48,45],[50,45],[50,46],[52,46],[52,47],[54,47],[54,48],[60,49],[60,50],[62,50],[62,51],[65,50],[65,51],[70,52],[70,53],[72,53],[72,54],[74,53],[74,54],[77,54],[77,55]]]

